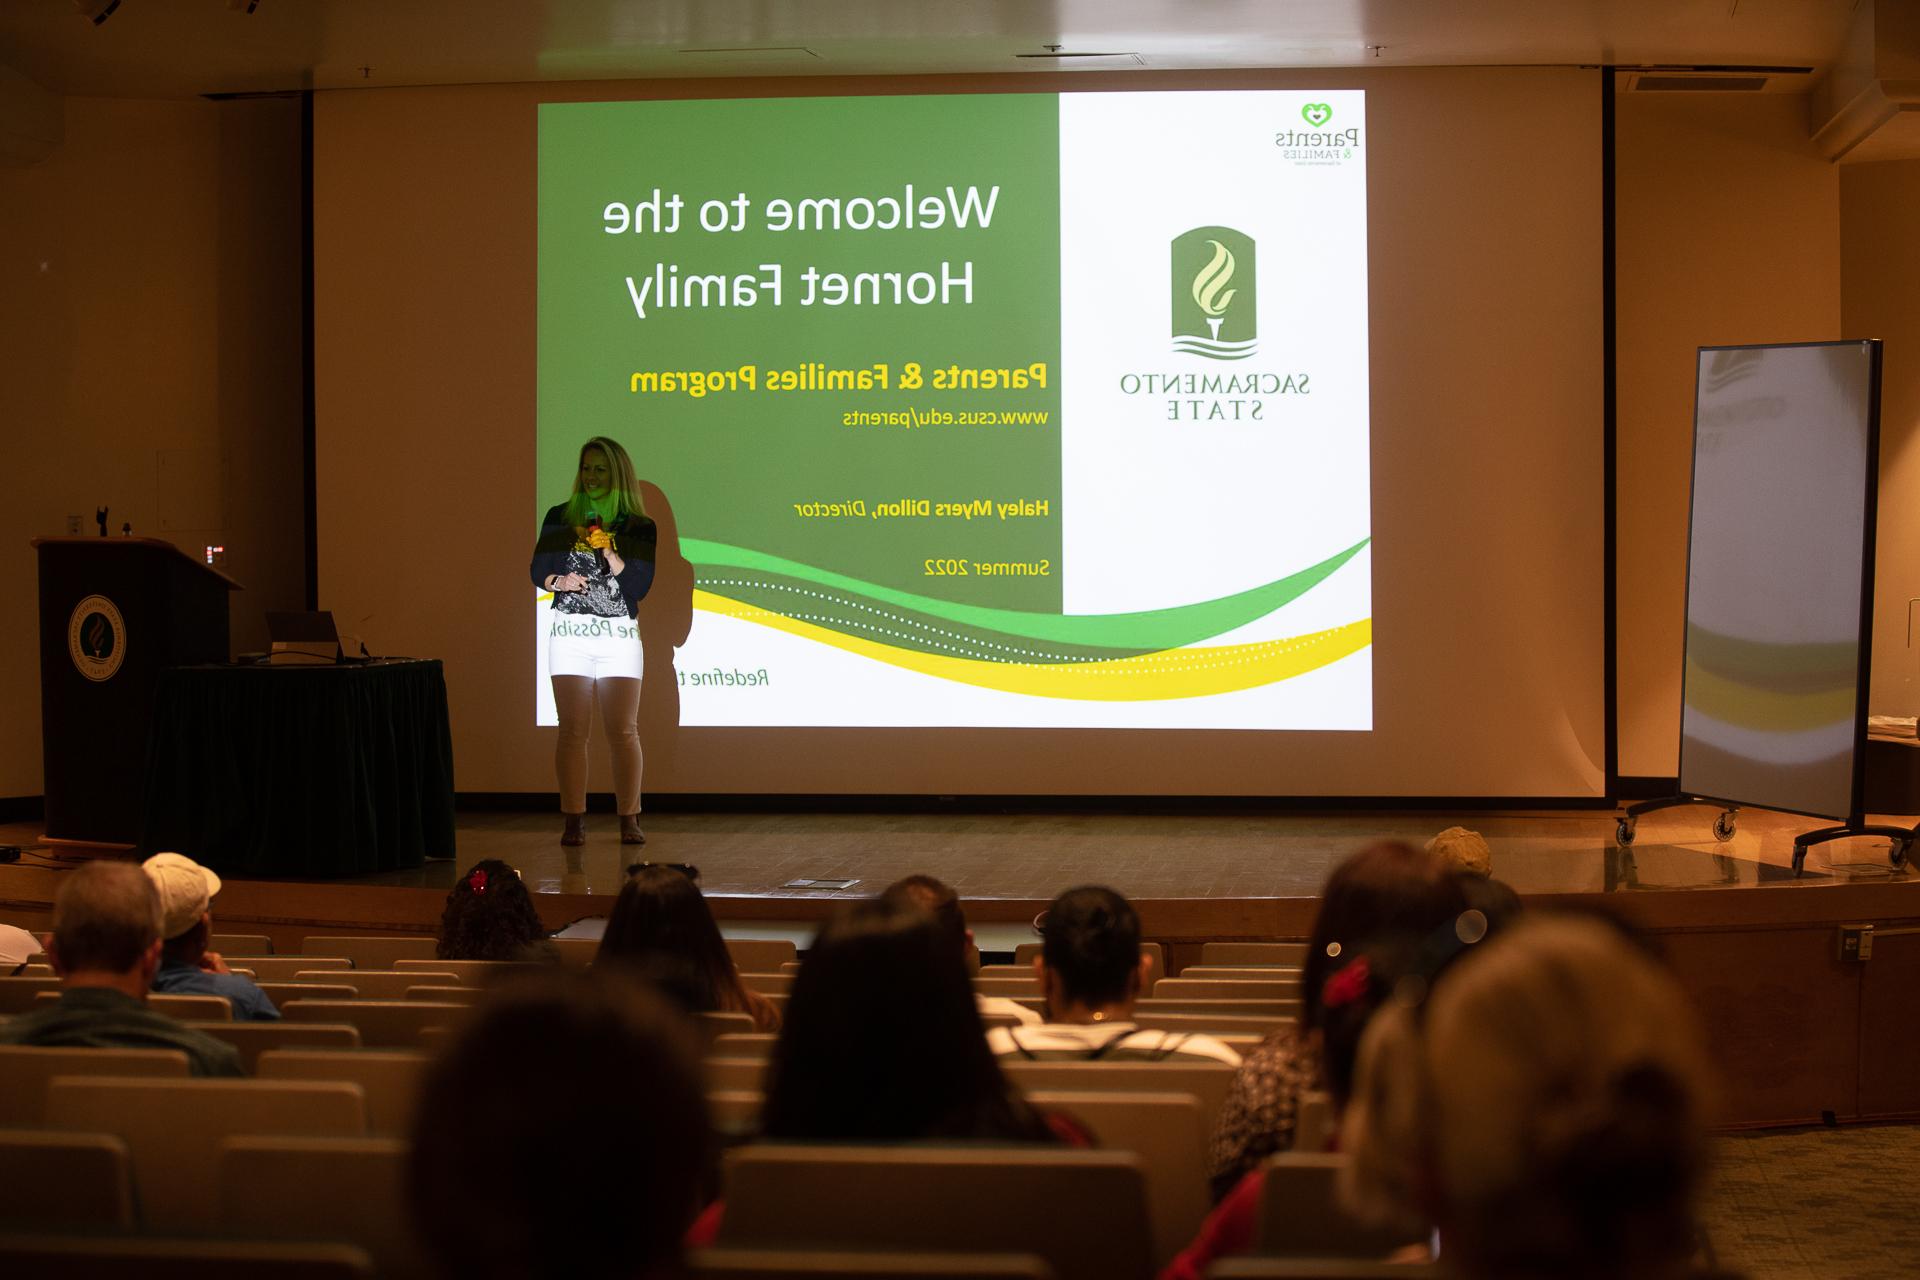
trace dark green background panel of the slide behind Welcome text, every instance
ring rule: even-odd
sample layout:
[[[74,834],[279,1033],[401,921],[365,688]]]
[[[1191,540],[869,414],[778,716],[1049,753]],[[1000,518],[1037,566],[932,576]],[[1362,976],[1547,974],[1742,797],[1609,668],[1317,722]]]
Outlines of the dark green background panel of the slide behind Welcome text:
[[[966,604],[1058,612],[1060,178],[1052,94],[545,104],[540,107],[540,430],[536,518],[572,480],[578,445],[611,436],[672,503],[680,533]],[[770,198],[916,200],[1000,188],[989,230],[768,232]],[[607,234],[609,201],[659,186],[685,200],[678,234]],[[699,228],[703,200],[751,198],[747,228]],[[972,305],[799,305],[801,273],[973,263]],[[626,276],[785,267],[783,303],[655,309]],[[636,370],[918,361],[918,391],[630,393]],[[931,370],[1044,361],[1046,390],[935,391]],[[845,411],[1048,413],[1046,426],[891,428]],[[793,503],[1046,499],[1018,520],[799,518]],[[1050,578],[929,578],[929,557],[1052,560]],[[689,557],[699,562],[697,557]]]

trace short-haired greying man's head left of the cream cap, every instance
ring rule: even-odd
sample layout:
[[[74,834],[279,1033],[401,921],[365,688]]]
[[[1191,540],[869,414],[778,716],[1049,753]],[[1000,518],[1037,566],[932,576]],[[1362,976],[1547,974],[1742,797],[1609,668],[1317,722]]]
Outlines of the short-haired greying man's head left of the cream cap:
[[[88,862],[54,894],[46,954],[69,986],[144,996],[159,967],[159,894],[131,862]]]

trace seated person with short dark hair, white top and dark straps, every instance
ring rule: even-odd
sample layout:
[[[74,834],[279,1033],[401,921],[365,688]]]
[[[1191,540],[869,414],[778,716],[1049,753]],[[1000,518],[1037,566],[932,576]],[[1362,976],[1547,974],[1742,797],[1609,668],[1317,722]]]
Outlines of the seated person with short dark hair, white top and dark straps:
[[[1219,1061],[1240,1065],[1231,1048],[1198,1032],[1146,1031],[1133,1023],[1152,958],[1140,948],[1140,915],[1112,889],[1081,885],[1046,908],[1033,971],[1046,996],[1046,1021],[995,1027],[987,1044],[1000,1057],[1037,1061]]]

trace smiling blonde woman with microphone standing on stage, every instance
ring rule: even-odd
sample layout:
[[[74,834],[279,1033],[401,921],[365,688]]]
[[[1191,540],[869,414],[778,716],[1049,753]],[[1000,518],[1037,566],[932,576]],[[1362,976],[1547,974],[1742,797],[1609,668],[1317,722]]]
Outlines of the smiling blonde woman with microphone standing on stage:
[[[588,727],[599,700],[612,739],[620,842],[639,831],[639,601],[653,585],[659,532],[639,505],[626,449],[595,436],[580,445],[574,491],[547,512],[534,543],[534,585],[553,593],[547,674],[561,716],[553,768],[561,779],[561,844],[586,844]]]

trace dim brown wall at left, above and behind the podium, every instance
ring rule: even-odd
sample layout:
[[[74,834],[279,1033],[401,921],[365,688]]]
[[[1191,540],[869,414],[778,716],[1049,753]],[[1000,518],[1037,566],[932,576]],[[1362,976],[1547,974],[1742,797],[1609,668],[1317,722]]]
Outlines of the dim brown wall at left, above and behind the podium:
[[[0,167],[0,798],[40,793],[27,539],[104,503],[115,533],[225,545],[236,649],[305,593],[300,104],[63,106],[48,159]]]

